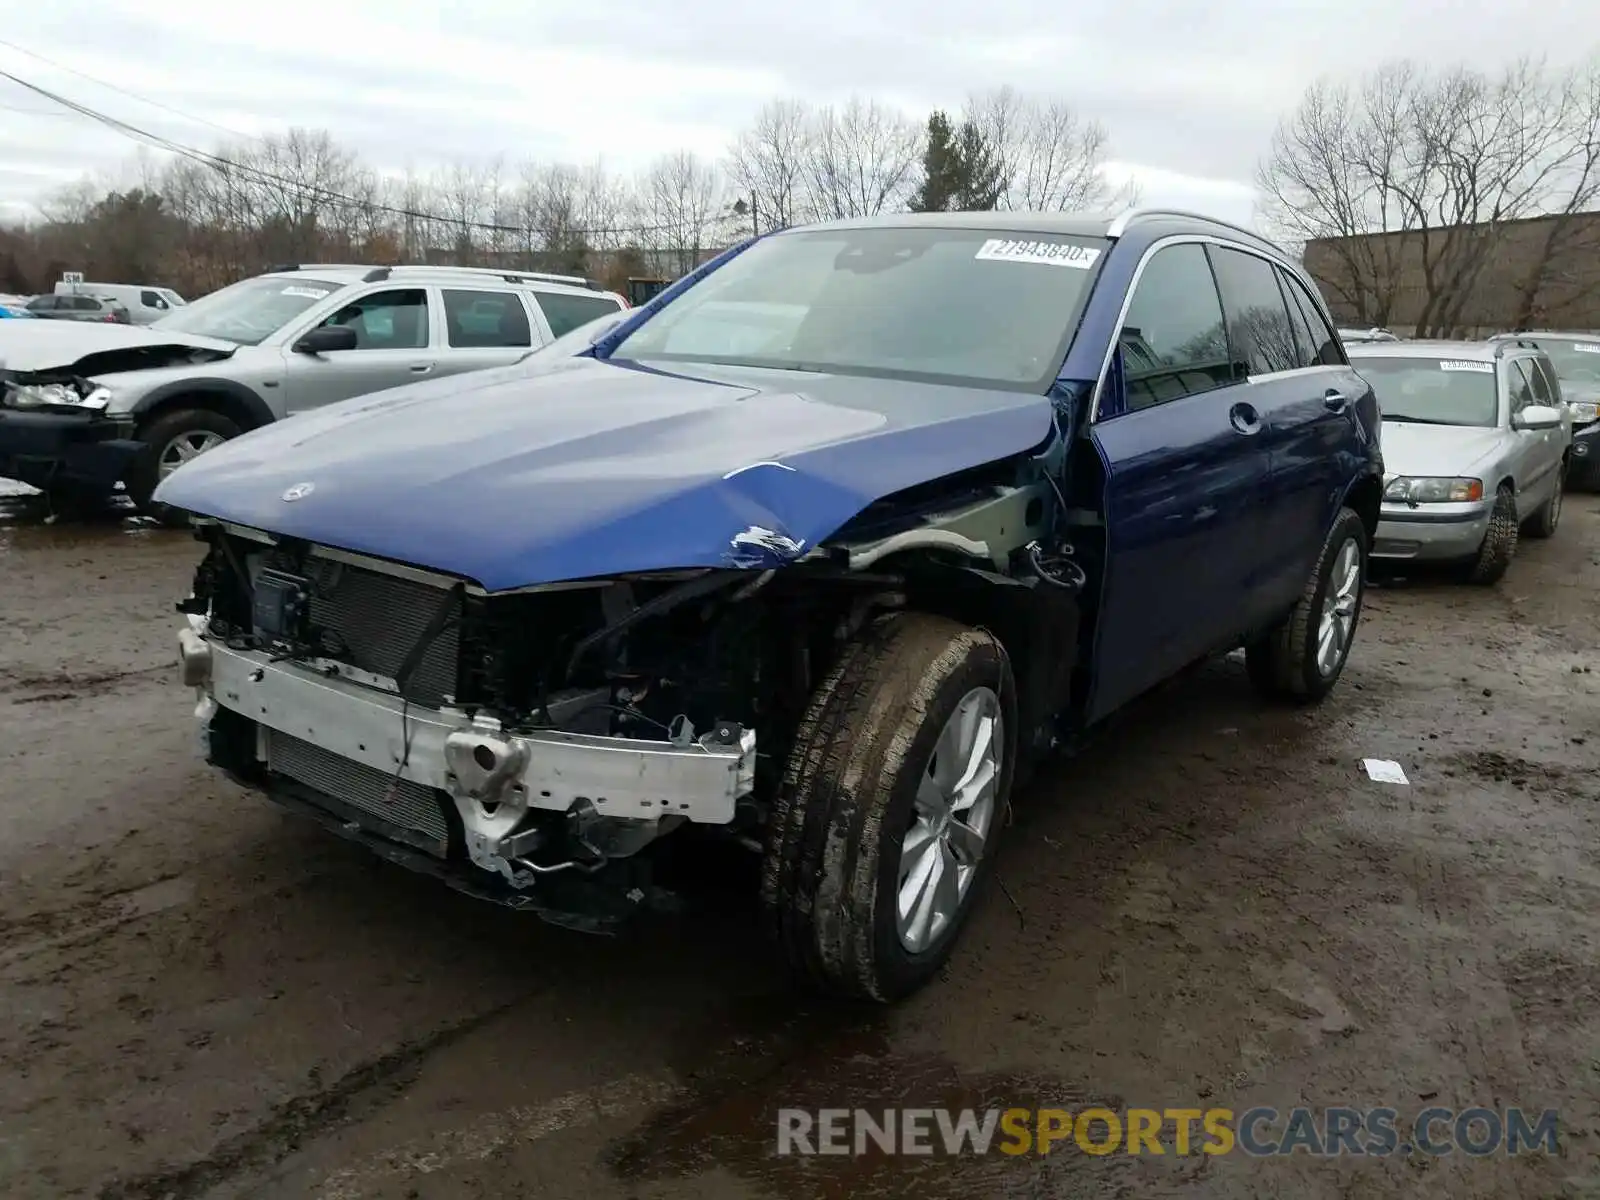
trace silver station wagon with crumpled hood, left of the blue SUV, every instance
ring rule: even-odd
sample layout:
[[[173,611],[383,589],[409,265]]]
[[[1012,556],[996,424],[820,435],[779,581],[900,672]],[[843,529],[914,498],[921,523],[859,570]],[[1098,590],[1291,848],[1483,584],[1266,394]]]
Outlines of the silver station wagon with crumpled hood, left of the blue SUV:
[[[42,296],[78,302],[82,296]],[[605,312],[571,277],[458,267],[285,267],[142,328],[0,333],[0,475],[150,494],[240,432],[416,379],[499,366]],[[45,333],[58,336],[43,336]]]

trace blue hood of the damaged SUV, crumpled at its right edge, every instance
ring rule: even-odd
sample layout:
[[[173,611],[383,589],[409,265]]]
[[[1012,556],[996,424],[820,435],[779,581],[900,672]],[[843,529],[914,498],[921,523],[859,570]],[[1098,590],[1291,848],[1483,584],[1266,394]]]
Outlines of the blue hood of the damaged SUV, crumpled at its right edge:
[[[1043,395],[568,358],[278,421],[184,464],[155,499],[501,590],[776,565],[1051,427]]]

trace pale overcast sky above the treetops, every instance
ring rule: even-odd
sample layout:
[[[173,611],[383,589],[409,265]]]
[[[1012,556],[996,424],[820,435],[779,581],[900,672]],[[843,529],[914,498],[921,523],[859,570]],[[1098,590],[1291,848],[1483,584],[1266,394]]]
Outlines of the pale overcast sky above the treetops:
[[[328,130],[379,168],[720,155],[768,99],[918,117],[1000,83],[1107,125],[1142,198],[1248,221],[1256,158],[1322,72],[1493,67],[1600,43],[1600,5],[1514,0],[0,0],[0,69],[165,138]],[[158,107],[166,106],[166,109]],[[0,80],[0,211],[136,144]],[[186,115],[174,115],[178,110]],[[210,122],[210,123],[208,123]]]

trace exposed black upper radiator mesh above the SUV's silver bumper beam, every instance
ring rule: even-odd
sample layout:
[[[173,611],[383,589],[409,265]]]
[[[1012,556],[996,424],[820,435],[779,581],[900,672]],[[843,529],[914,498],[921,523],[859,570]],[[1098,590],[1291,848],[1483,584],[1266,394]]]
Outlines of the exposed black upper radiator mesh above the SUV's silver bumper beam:
[[[312,626],[338,635],[349,651],[339,658],[386,678],[400,670],[446,597],[443,587],[333,558],[312,555],[306,566],[314,584]],[[422,653],[405,696],[429,707],[454,696],[459,646],[459,622],[451,621]]]

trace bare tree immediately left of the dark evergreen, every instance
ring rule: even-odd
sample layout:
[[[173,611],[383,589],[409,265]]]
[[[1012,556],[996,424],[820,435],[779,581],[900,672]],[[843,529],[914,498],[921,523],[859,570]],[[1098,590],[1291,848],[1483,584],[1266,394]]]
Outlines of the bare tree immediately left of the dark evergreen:
[[[898,109],[853,98],[816,115],[806,155],[813,216],[874,216],[917,187],[922,126]]]

